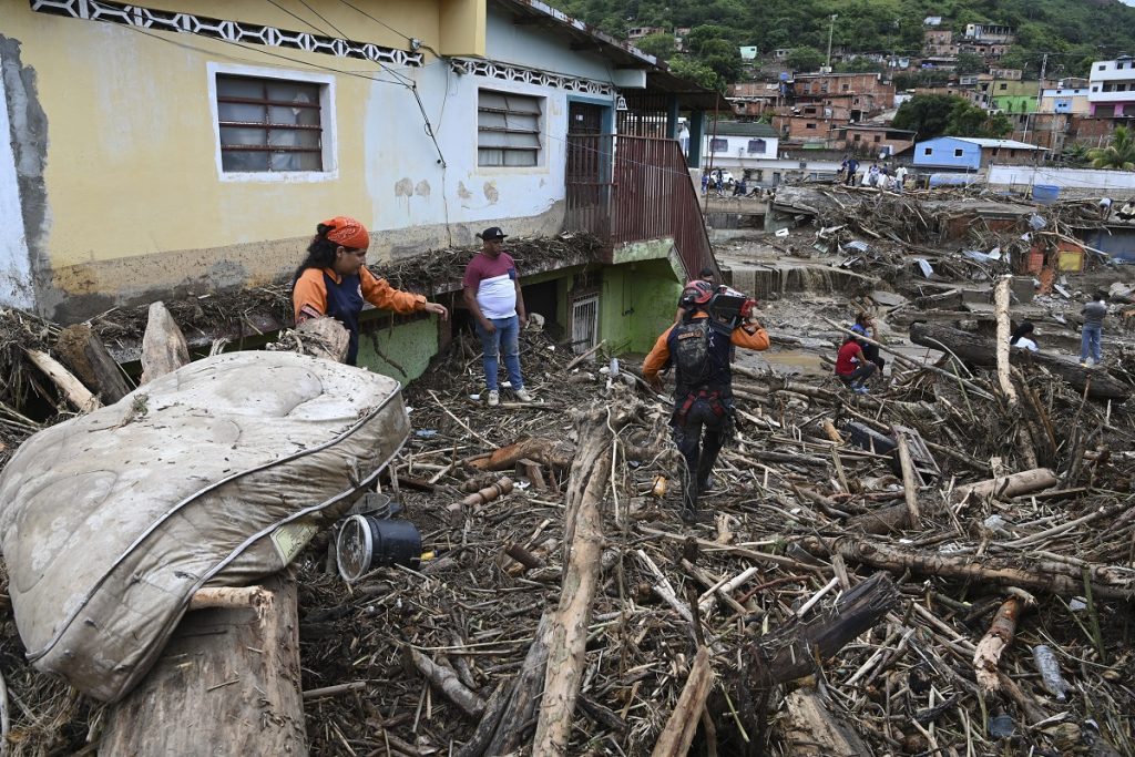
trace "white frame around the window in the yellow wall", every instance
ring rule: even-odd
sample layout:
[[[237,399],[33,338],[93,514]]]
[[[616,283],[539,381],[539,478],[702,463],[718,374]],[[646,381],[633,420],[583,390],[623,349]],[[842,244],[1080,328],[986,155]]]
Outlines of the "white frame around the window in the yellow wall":
[[[209,110],[212,116],[213,128],[213,151],[217,163],[217,177],[221,182],[237,183],[266,183],[266,184],[297,184],[312,182],[331,182],[339,177],[338,161],[338,131],[335,112],[335,84],[336,78],[331,74],[316,74],[311,72],[280,70],[278,68],[263,68],[260,66],[241,66],[236,64],[209,62],[205,66],[209,76]],[[297,82],[302,84],[318,84],[319,86],[319,118],[322,133],[320,141],[322,153],[320,160],[323,165],[321,171],[226,171],[221,162],[220,152],[220,113],[217,109],[217,76],[251,76],[255,78],[275,78],[284,82]]]

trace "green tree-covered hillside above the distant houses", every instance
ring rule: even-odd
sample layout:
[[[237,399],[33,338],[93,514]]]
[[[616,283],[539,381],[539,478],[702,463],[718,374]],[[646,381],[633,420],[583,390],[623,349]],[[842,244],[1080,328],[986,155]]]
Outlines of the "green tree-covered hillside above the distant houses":
[[[693,27],[691,54],[679,56],[675,62],[700,64],[725,78],[740,72],[739,65],[722,59],[731,58],[728,48],[735,45],[757,45],[764,52],[826,50],[833,14],[838,15],[833,44],[856,52],[918,54],[927,16],[941,16],[941,28],[952,28],[956,35],[966,24],[1006,24],[1016,30],[1018,41],[1003,65],[1024,68],[1033,77],[1045,52],[1050,76],[1086,76],[1093,60],[1135,54],[1135,8],[1118,0],[555,0],[554,5],[619,37],[636,26]],[[646,47],[666,48],[664,40],[648,41]]]

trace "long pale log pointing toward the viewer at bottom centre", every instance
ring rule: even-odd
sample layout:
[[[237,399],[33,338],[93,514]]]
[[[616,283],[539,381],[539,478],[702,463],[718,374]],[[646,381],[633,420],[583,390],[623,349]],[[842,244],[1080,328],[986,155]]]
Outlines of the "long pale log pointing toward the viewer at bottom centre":
[[[536,724],[535,755],[563,755],[568,750],[599,574],[603,546],[599,503],[609,483],[612,434],[629,420],[629,413],[615,412],[616,406],[613,402],[606,407],[592,407],[575,422],[579,446],[568,481],[564,513],[568,555],[548,640],[548,668]]]

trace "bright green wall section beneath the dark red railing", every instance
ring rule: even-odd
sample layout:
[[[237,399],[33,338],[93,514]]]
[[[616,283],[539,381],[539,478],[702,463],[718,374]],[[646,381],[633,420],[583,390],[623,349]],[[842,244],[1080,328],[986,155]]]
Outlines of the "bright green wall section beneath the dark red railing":
[[[599,337],[619,352],[649,352],[674,322],[682,284],[669,259],[604,268]]]

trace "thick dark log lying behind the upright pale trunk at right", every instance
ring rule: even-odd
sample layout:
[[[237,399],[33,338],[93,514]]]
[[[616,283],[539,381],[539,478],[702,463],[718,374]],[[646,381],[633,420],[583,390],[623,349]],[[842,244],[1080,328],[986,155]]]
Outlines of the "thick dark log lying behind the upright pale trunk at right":
[[[985,337],[968,331],[915,322],[910,325],[910,340],[924,347],[941,351],[943,345],[967,363],[981,368],[997,368],[997,351]],[[1103,368],[1084,368],[1075,360],[1058,358],[1043,352],[1014,350],[1010,361],[1015,365],[1033,363],[1063,379],[1077,392],[1087,387],[1087,396],[1094,399],[1126,399],[1130,387],[1113,378]],[[1091,382],[1091,384],[1090,384]]]

